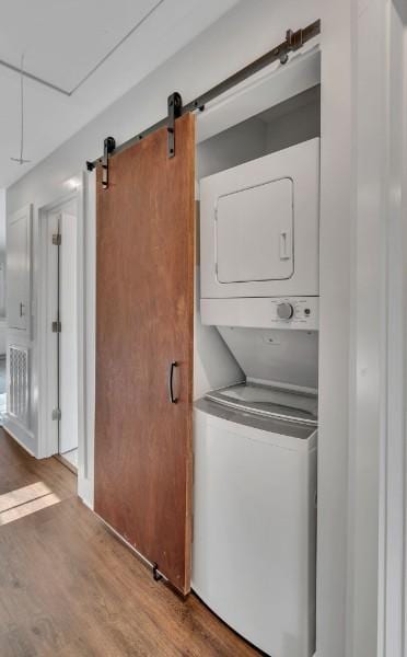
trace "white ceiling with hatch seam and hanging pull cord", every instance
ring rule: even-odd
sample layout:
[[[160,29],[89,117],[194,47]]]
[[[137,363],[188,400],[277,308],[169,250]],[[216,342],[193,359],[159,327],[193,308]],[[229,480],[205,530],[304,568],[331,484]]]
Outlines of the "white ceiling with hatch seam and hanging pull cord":
[[[0,65],[0,187],[24,175],[96,114],[217,21],[237,0],[1,0],[0,60],[25,79],[20,154],[20,76]]]

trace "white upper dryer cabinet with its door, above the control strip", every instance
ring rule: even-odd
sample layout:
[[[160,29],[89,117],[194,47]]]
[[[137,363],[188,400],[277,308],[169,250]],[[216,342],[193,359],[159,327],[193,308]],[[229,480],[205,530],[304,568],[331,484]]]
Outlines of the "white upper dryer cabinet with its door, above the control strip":
[[[201,299],[316,297],[319,139],[200,181]]]

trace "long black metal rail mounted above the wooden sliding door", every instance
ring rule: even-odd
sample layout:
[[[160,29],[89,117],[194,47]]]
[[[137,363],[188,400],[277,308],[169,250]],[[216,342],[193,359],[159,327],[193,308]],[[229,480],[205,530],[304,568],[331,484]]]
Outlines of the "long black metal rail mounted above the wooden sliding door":
[[[302,46],[306,42],[311,41],[312,38],[317,36],[319,33],[321,33],[321,21],[319,20],[315,21],[314,23],[311,23],[310,25],[307,25],[306,27],[304,27],[302,30],[298,30],[296,32],[293,32],[292,30],[288,30],[288,32],[286,34],[286,39],[281,44],[279,44],[278,46],[276,46],[275,48],[272,48],[271,50],[269,50],[268,53],[266,53],[265,55],[263,55],[261,57],[259,57],[252,64],[245,66],[243,69],[241,69],[236,73],[233,73],[233,76],[230,76],[222,82],[219,82],[219,84],[216,84],[214,87],[212,87],[212,89],[209,89],[209,91],[202,93],[194,101],[190,101],[186,105],[181,104],[181,106],[178,107],[178,111],[176,113],[176,117],[183,116],[184,114],[187,114],[188,112],[195,112],[196,110],[205,110],[205,105],[207,103],[209,103],[213,99],[220,96],[222,93],[229,91],[233,87],[236,87],[236,84],[240,84],[241,82],[243,82],[251,76],[257,73],[258,71],[264,69],[266,66],[269,66],[274,61],[279,60],[281,64],[286,64],[288,61],[288,56],[290,53],[299,50],[300,48],[302,48]],[[170,99],[173,97],[173,95],[170,96]],[[107,159],[109,157],[120,153],[121,151],[126,150],[127,148],[133,146],[135,143],[137,143],[144,137],[147,137],[147,135],[154,132],[159,128],[168,127],[168,125],[170,125],[170,130],[168,130],[170,139],[173,140],[174,116],[170,116],[170,120],[168,120],[168,116],[165,116],[165,118],[162,118],[161,120],[153,124],[149,128],[146,128],[144,130],[142,130],[135,137],[131,137],[127,141],[124,141],[119,146],[116,146],[113,150],[109,150],[108,152],[106,152],[106,148],[105,148],[104,155],[102,155],[101,158],[97,158],[96,160],[94,160],[92,162],[90,162],[90,161],[86,162],[88,170],[92,171],[97,164],[103,164],[104,169],[107,169],[107,166],[108,166]],[[108,137],[107,139],[113,139],[113,138]],[[111,143],[113,143],[113,142],[111,142]],[[105,140],[105,145],[106,145],[106,140]],[[174,152],[175,151],[171,152],[171,157],[174,155]],[[107,182],[107,171],[106,171],[105,180]],[[104,184],[104,187],[107,187],[107,184]]]

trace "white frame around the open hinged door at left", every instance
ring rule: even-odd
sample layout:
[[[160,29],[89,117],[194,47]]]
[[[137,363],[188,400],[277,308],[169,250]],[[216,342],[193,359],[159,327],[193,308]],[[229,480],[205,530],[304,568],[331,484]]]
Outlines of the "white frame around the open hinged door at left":
[[[38,209],[38,459],[58,453],[57,423],[53,420],[54,397],[49,387],[49,371],[57,362],[54,337],[48,326],[48,285],[49,244],[47,218],[49,212],[62,208],[70,201],[77,205],[77,321],[78,321],[78,471],[85,461],[86,446],[84,433],[84,176],[80,173],[74,178],[75,188],[68,194],[42,206]]]

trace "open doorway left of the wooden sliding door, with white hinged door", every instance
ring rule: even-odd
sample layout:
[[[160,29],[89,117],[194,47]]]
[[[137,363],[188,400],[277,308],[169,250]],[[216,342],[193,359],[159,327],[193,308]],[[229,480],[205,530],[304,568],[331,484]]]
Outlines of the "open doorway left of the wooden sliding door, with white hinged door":
[[[47,396],[43,456],[57,456],[73,472],[79,458],[79,235],[78,197],[42,212],[45,256],[43,303],[43,390]]]

